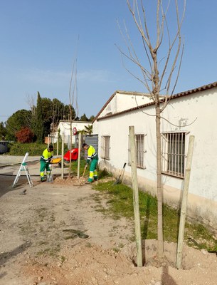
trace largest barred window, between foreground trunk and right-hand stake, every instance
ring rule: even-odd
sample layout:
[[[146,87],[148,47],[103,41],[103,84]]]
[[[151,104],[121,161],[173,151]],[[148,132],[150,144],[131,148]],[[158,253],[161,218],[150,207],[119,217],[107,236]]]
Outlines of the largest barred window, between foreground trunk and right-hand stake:
[[[162,134],[162,173],[184,178],[186,133]]]

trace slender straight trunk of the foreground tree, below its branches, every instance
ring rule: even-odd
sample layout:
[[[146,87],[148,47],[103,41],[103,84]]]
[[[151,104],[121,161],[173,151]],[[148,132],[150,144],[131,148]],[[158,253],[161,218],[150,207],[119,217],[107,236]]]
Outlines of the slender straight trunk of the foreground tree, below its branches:
[[[158,256],[164,254],[163,241],[163,191],[162,191],[162,160],[161,160],[161,121],[160,106],[155,107],[156,110],[156,138],[157,138],[157,240],[158,240]]]

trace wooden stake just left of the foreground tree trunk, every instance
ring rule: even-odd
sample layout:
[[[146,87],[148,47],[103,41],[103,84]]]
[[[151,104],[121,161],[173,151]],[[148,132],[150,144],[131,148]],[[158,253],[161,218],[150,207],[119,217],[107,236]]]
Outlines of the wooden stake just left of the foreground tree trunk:
[[[131,157],[131,172],[132,172],[132,190],[133,190],[133,208],[135,222],[135,236],[137,244],[137,266],[142,267],[142,241],[139,217],[139,191],[137,182],[137,157],[135,146],[134,126],[129,126],[129,147]]]

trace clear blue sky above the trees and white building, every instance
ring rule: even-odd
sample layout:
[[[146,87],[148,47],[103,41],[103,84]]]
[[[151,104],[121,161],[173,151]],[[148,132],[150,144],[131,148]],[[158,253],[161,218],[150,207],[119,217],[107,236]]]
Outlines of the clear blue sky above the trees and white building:
[[[146,2],[152,11],[154,1]],[[217,81],[216,12],[216,0],[187,0],[175,93]],[[68,104],[75,58],[79,116],[97,115],[115,90],[146,92],[122,65],[115,44],[125,50],[125,43],[117,20],[125,20],[137,46],[125,0],[0,0],[0,122],[29,110],[28,98],[37,91]]]

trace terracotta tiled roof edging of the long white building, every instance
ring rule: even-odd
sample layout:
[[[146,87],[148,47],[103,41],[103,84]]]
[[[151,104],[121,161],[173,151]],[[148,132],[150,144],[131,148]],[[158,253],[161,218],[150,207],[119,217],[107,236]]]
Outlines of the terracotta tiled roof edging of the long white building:
[[[176,98],[180,98],[180,97],[184,97],[186,95],[191,95],[193,93],[197,93],[197,92],[200,92],[200,91],[203,91],[203,90],[207,90],[207,89],[211,89],[211,88],[214,88],[214,87],[217,87],[217,81],[216,82],[213,82],[213,83],[210,83],[210,84],[207,84],[207,85],[204,85],[204,86],[201,86],[201,87],[198,87],[198,88],[194,88],[194,89],[191,89],[191,90],[187,90],[187,91],[184,91],[184,92],[181,92],[181,93],[177,93],[175,95],[172,95],[169,100],[174,100]],[[134,94],[134,95],[142,95],[142,94],[145,94],[147,95],[147,93],[139,93],[139,92],[127,92],[127,91],[115,91],[115,93],[112,94],[112,96],[109,98],[109,100],[107,100],[107,102],[105,103],[105,105],[102,107],[102,109],[100,110],[99,113],[97,113],[97,115],[95,116],[95,119],[92,120],[92,123],[95,122],[95,120],[101,120],[103,118],[109,118],[109,117],[114,117],[115,115],[120,115],[122,113],[127,113],[127,112],[130,112],[132,110],[137,110],[137,109],[140,109],[140,108],[144,108],[144,107],[147,107],[147,106],[150,106],[150,105],[154,105],[154,102],[150,102],[150,103],[146,103],[144,105],[139,105],[137,107],[134,107],[134,108],[130,108],[130,109],[127,109],[127,110],[123,110],[121,112],[118,112],[118,113],[114,113],[114,114],[111,114],[111,115],[106,115],[106,116],[103,116],[101,118],[98,118],[100,113],[102,113],[102,111],[105,109],[105,107],[107,106],[108,103],[110,103],[110,101],[112,100],[112,98],[115,97],[115,95],[117,93],[125,93],[125,94]],[[164,99],[162,99],[163,101]]]

